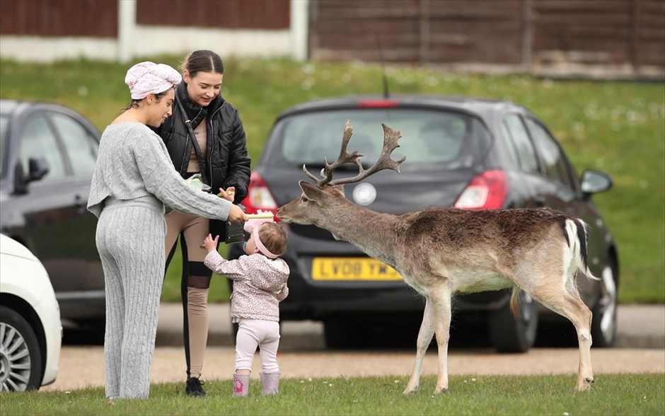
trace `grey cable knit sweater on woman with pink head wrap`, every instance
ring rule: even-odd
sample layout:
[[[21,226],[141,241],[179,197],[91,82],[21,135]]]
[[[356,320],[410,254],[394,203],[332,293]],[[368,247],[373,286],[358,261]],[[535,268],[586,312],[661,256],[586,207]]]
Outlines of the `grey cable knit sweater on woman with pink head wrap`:
[[[225,221],[231,212],[231,202],[180,177],[164,142],[149,127],[137,122],[109,125],[100,141],[88,210],[99,217],[106,197],[132,200],[151,194],[187,214]]]

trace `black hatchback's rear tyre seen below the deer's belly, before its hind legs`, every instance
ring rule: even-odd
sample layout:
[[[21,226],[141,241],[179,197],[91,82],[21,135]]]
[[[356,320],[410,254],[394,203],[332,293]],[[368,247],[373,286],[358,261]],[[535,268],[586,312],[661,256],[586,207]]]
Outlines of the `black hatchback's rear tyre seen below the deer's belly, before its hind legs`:
[[[527,352],[536,342],[538,302],[520,291],[519,311],[520,316],[513,316],[507,303],[498,311],[490,312],[490,342],[498,352]]]

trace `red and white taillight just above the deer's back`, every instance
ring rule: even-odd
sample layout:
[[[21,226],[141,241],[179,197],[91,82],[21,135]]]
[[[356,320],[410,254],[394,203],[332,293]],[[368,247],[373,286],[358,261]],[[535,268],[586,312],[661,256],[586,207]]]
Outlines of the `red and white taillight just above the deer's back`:
[[[460,209],[499,209],[508,195],[504,171],[487,171],[473,178],[453,205]]]

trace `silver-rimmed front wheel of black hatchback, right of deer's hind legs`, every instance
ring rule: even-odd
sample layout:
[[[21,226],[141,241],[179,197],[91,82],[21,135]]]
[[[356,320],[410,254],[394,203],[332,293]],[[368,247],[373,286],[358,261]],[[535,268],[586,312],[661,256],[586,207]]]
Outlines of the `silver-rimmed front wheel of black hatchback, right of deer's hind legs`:
[[[616,341],[617,284],[615,268],[605,267],[601,275],[601,296],[593,310],[591,340],[594,347],[612,347]]]

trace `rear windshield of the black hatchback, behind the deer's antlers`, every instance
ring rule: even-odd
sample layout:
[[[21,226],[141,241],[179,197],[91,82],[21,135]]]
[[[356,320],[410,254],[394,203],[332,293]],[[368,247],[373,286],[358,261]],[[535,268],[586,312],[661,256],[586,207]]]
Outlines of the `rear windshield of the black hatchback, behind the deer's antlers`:
[[[284,118],[275,126],[271,151],[264,162],[269,166],[323,165],[337,160],[342,133],[349,120],[353,135],[347,150],[364,155],[364,165],[381,155],[381,123],[399,130],[400,147],[393,159],[407,157],[409,166],[436,165],[438,168],[468,168],[487,149],[487,132],[475,117],[461,112],[422,109],[325,110]]]

